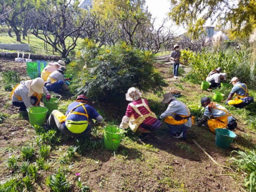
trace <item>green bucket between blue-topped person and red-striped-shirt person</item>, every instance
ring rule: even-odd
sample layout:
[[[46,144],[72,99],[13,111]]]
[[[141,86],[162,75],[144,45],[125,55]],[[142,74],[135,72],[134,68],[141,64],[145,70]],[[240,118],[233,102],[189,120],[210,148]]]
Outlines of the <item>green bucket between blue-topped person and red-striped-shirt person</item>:
[[[107,126],[104,128],[104,144],[108,150],[117,150],[122,140],[124,130],[118,126]]]

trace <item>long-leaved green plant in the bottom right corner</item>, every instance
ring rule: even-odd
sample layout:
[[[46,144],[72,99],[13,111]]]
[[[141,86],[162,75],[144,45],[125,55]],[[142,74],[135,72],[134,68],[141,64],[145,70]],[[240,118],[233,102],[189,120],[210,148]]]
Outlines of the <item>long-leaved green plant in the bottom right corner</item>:
[[[236,157],[230,159],[230,161],[236,165],[237,170],[244,172],[244,186],[246,186],[250,192],[256,191],[256,151],[232,151],[237,153]]]

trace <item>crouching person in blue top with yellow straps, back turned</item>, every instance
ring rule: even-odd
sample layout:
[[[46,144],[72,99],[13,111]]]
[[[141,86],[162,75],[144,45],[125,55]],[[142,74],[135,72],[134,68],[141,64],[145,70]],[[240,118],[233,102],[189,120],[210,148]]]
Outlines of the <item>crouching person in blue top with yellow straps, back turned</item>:
[[[92,129],[92,119],[96,119],[97,122],[103,120],[89,103],[86,96],[80,95],[75,102],[68,105],[66,115],[53,110],[47,120],[46,130],[57,127],[63,134],[70,137],[85,137]]]

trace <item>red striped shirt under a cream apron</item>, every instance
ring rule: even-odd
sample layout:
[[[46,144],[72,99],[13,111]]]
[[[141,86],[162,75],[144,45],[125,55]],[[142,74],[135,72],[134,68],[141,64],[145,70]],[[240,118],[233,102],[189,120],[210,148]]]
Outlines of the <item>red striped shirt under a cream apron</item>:
[[[146,105],[148,105],[148,101],[146,99],[145,103]],[[134,105],[139,105],[142,104],[142,100],[141,99],[137,99],[136,101],[131,102]],[[149,106],[148,106],[149,108]],[[140,111],[141,114],[143,115],[147,115],[148,113],[150,113],[144,106],[138,107],[138,110]],[[134,115],[134,118],[137,119],[140,115],[131,107],[131,105],[128,105],[126,112],[125,112],[125,116],[131,117],[131,115]],[[153,125],[154,122],[156,122],[157,119],[151,116],[148,116],[145,121],[143,121],[144,124],[146,125]]]

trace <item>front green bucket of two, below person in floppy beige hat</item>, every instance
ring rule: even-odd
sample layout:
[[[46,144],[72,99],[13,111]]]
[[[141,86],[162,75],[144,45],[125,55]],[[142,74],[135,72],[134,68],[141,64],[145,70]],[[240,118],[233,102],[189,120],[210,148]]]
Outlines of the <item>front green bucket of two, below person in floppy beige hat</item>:
[[[32,126],[44,125],[45,118],[48,111],[46,107],[31,106],[27,108],[27,111],[29,113],[29,122]]]

